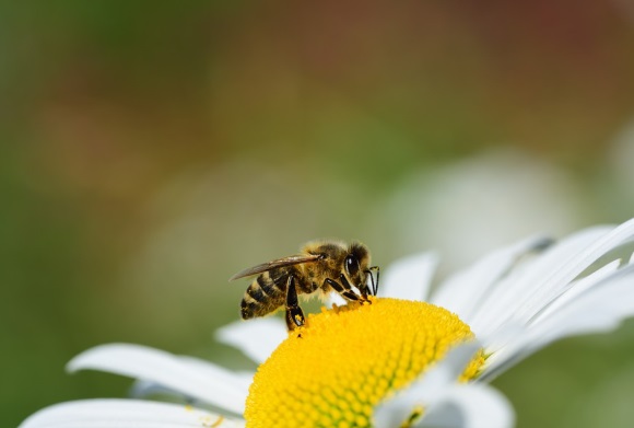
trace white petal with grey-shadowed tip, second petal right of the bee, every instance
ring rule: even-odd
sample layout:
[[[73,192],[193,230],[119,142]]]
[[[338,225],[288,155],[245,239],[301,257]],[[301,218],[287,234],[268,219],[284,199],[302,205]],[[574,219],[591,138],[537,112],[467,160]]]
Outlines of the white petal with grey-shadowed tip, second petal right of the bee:
[[[455,312],[470,324],[473,312],[496,281],[506,275],[523,255],[549,244],[550,240],[536,236],[488,254],[468,269],[443,282],[432,296],[431,302]]]

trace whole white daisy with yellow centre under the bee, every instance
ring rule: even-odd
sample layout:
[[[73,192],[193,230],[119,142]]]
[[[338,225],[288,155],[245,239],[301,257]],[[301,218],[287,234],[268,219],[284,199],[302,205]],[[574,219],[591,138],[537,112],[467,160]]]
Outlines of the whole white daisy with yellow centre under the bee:
[[[149,381],[244,415],[249,427],[508,427],[507,402],[485,382],[553,340],[609,331],[634,314],[626,251],[633,238],[634,220],[556,244],[529,239],[483,257],[433,292],[436,257],[402,259],[386,269],[372,304],[322,310],[289,335],[277,319],[221,329],[222,342],[261,363],[255,377],[133,345],[91,349],[69,369]],[[44,409],[21,427],[166,421],[244,424],[178,405],[87,401]]]

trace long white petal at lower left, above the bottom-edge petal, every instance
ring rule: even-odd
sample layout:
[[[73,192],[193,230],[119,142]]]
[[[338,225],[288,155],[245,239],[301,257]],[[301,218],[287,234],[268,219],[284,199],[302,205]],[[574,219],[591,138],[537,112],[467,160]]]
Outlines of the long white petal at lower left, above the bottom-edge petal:
[[[97,346],[73,358],[67,369],[102,370],[152,381],[236,414],[244,412],[248,394],[244,378],[226,369],[208,362],[201,370],[174,355],[139,345]]]

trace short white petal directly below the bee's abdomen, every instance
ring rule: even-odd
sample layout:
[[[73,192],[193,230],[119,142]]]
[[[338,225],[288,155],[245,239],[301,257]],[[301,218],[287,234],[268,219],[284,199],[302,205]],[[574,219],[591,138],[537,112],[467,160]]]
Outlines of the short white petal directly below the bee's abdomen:
[[[257,363],[262,363],[289,337],[284,322],[277,317],[238,321],[219,328],[215,338],[242,350]]]

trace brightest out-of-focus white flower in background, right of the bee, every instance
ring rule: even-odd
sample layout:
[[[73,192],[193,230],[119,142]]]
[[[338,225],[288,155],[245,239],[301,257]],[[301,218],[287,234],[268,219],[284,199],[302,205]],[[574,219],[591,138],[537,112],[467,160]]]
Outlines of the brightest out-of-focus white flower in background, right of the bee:
[[[535,231],[574,231],[586,212],[582,201],[563,170],[519,151],[491,152],[410,175],[373,205],[366,241],[404,254],[425,245],[451,271]]]

